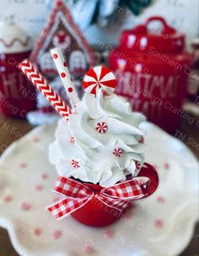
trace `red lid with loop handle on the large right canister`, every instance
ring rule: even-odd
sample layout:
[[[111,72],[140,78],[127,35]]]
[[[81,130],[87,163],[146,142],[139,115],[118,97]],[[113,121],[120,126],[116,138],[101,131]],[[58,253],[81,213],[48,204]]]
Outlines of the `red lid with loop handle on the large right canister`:
[[[148,25],[152,21],[159,21],[162,24],[162,30],[158,34],[148,30]],[[154,16],[133,30],[124,30],[120,42],[122,48],[137,52],[182,52],[185,47],[185,35],[177,33],[162,17]]]

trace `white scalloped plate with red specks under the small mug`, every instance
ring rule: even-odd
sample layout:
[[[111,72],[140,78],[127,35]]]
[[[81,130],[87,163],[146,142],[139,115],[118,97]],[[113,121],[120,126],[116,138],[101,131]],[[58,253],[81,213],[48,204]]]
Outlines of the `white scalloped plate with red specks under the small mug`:
[[[173,256],[186,248],[198,218],[198,162],[184,144],[144,123],[146,160],[157,166],[159,188],[122,221],[92,228],[72,217],[55,221],[45,210],[56,198],[56,172],[47,157],[55,128],[35,128],[1,157],[0,226],[20,255]]]

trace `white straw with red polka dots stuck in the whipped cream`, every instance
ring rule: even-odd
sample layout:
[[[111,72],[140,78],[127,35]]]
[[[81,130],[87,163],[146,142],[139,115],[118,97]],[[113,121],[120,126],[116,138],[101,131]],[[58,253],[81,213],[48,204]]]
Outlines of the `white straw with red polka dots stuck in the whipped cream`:
[[[67,68],[67,63],[62,55],[60,48],[57,47],[52,49],[51,55],[54,59],[54,62],[56,63],[56,69],[60,74],[62,83],[65,89],[67,90],[67,95],[71,101],[71,105],[74,107],[79,101],[78,94],[77,94],[77,91],[75,90],[73,81],[71,79],[71,76]]]

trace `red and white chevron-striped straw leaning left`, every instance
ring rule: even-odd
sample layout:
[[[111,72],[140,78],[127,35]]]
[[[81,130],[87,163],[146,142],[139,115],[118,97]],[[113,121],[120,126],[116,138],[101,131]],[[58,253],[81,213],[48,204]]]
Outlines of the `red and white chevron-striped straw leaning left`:
[[[19,63],[19,68],[30,79],[35,87],[51,102],[62,117],[68,120],[68,116],[71,114],[71,109],[67,106],[66,102],[56,94],[55,90],[51,88],[51,85],[47,83],[46,79],[37,71],[37,69],[30,63],[29,60],[24,60]]]

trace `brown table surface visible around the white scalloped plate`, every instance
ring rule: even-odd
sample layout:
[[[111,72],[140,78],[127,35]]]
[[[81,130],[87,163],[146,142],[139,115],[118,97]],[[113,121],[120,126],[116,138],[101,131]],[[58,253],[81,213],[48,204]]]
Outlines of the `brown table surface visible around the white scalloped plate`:
[[[180,123],[180,128],[175,130],[173,135],[183,140],[199,158],[199,121],[187,123],[185,120]],[[196,122],[198,122],[196,125]],[[17,120],[0,116],[0,155],[6,150],[9,144],[28,133],[33,127],[24,120]],[[197,256],[199,248],[199,224],[196,226],[194,236],[190,245],[180,256]],[[8,232],[0,228],[0,256],[18,256],[10,243]]]

